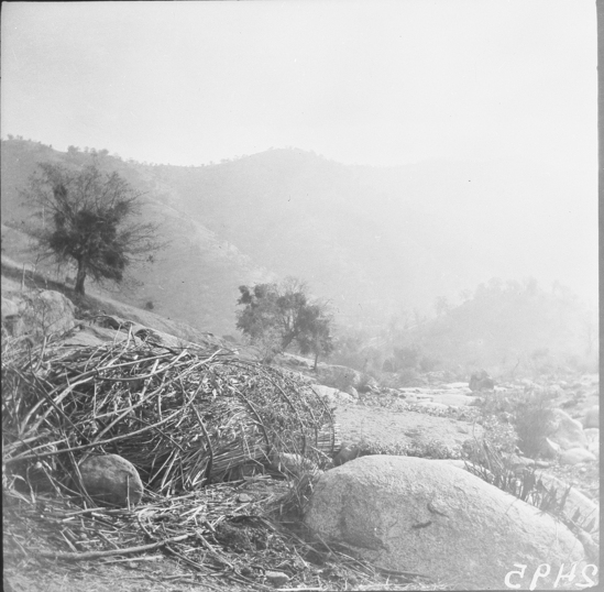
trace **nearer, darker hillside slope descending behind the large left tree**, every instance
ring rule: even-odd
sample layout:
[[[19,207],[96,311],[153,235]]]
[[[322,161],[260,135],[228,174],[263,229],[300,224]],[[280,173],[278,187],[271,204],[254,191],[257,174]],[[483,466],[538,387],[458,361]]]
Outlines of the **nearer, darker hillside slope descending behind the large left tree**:
[[[26,183],[36,164],[56,162],[80,166],[89,161],[90,155],[68,155],[31,142],[2,142],[3,253],[19,262],[35,259],[24,234],[32,223],[31,211],[23,207],[18,189]],[[131,270],[133,281],[99,292],[141,308],[151,303],[160,315],[200,330],[233,332],[238,286],[270,281],[274,275],[196,219],[156,199],[155,188],[130,164],[109,156],[99,161],[145,194],[144,218],[156,222],[161,239],[169,241],[153,265]],[[54,267],[42,264],[40,268],[55,276]],[[66,274],[69,275],[64,271],[61,279]]]

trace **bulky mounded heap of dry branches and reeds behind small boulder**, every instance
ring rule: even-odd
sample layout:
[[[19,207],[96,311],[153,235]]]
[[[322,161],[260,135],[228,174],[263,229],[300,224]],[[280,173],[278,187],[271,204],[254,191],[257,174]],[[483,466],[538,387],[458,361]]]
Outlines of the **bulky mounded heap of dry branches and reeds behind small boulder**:
[[[6,486],[76,481],[91,453],[118,453],[147,490],[175,494],[253,474],[282,452],[325,464],[340,442],[301,379],[231,353],[136,343],[41,344],[2,359]],[[12,480],[12,481],[11,481]]]

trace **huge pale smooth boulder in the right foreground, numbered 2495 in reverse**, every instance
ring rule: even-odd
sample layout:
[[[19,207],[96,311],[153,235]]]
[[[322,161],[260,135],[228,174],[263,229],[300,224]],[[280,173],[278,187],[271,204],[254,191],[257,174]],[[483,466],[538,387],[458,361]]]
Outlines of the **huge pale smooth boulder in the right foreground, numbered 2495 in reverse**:
[[[305,523],[377,567],[455,589],[505,589],[517,563],[529,574],[513,582],[523,589],[541,563],[584,567],[583,546],[564,525],[442,461],[371,456],[328,471]],[[551,589],[557,572],[537,588]]]

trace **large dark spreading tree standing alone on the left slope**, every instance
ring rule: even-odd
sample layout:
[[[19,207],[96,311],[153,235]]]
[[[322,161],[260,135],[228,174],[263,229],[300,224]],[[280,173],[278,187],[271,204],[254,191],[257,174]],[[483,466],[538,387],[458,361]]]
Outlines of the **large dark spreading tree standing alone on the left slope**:
[[[41,164],[21,195],[41,218],[34,235],[42,255],[77,266],[76,294],[85,294],[87,276],[120,283],[128,265],[153,261],[163,246],[155,224],[135,220],[141,194],[96,164],[81,169]]]

